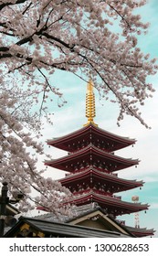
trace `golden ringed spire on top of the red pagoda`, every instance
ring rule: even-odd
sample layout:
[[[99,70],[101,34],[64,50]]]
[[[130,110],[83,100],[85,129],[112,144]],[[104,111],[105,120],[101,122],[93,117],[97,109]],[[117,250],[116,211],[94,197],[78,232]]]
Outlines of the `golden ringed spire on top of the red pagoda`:
[[[83,126],[87,126],[90,123],[98,126],[98,124],[94,123],[94,121],[93,121],[93,118],[95,116],[96,116],[95,95],[93,92],[92,80],[89,80],[88,85],[87,85],[87,92],[86,92],[86,117],[88,118],[88,123],[84,124]]]

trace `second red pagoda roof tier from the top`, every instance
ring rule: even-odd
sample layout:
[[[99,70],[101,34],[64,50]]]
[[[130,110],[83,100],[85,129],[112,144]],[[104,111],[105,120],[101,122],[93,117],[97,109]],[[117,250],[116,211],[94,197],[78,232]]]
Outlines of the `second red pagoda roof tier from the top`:
[[[132,165],[138,165],[138,163],[138,159],[123,158],[113,155],[90,144],[75,153],[47,161],[45,165],[68,172],[74,172],[76,168],[80,168],[80,165],[85,167],[88,165],[101,165],[102,170],[114,172]]]

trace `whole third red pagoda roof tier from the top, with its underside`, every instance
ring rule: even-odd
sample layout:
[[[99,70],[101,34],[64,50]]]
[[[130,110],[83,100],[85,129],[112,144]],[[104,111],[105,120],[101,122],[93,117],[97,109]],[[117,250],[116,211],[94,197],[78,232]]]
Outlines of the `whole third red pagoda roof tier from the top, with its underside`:
[[[68,187],[70,191],[72,188],[77,191],[79,187],[84,188],[85,186],[89,186],[90,188],[100,187],[100,189],[102,187],[102,189],[109,191],[110,193],[117,193],[143,186],[142,181],[122,179],[116,175],[100,172],[100,170],[97,170],[92,166],[79,171],[78,173],[67,175],[58,181],[62,186]]]

